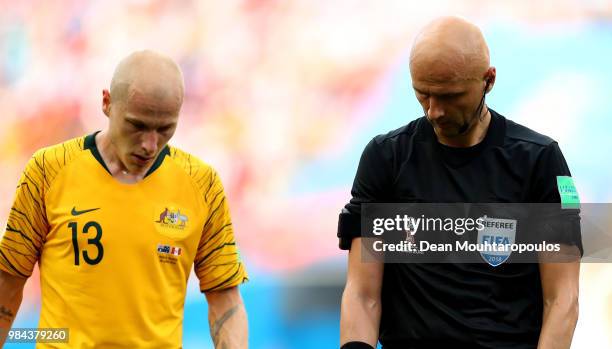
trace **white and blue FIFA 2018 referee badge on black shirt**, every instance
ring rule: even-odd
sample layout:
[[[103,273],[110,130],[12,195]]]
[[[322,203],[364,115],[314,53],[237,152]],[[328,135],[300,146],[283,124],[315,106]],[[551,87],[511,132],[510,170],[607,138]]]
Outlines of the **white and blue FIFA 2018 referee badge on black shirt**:
[[[516,220],[484,217],[484,228],[478,231],[478,244],[505,245],[506,249],[493,249],[481,251],[480,255],[485,262],[497,267],[510,258],[511,245],[516,236]]]

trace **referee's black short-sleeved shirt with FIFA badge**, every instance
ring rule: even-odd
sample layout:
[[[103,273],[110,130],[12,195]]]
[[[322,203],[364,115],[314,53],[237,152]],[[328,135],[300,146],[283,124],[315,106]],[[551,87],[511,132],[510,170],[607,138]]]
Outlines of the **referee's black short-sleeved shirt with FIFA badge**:
[[[366,146],[340,215],[340,248],[361,236],[362,203],[560,202],[570,176],[557,143],[491,111],[483,141],[438,142],[424,117]],[[392,348],[536,348],[542,325],[537,264],[385,264],[379,340]]]

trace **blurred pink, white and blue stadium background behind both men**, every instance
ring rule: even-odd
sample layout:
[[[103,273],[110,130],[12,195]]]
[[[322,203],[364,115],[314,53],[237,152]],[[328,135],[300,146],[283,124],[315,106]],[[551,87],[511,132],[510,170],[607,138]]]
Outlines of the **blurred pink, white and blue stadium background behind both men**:
[[[583,202],[611,202],[609,0],[0,0],[0,224],[39,147],[104,127],[101,91],[136,49],[174,57],[186,100],[173,144],[220,172],[251,281],[252,348],[334,348],[345,253],[337,214],[364,145],[421,115],[416,30],[459,14],[497,67],[488,104],[559,141]],[[585,264],[573,348],[612,347],[612,265]],[[35,327],[36,273],[16,327]],[[26,348],[32,345],[7,345]],[[185,348],[212,348],[190,280]]]

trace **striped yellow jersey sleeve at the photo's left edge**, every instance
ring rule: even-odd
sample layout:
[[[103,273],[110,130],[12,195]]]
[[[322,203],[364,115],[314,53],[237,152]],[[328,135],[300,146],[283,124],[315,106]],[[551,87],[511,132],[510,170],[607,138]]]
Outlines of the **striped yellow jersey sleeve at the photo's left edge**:
[[[19,183],[0,240],[0,270],[24,278],[32,274],[48,231],[45,213],[44,152],[35,154]]]

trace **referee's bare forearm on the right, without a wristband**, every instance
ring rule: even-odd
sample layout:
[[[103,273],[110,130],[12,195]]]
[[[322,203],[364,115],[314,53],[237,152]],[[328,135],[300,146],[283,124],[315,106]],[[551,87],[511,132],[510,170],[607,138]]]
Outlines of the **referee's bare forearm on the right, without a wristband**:
[[[538,349],[569,349],[577,322],[577,300],[555,299],[545,302]]]

